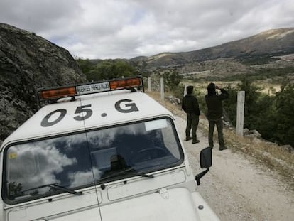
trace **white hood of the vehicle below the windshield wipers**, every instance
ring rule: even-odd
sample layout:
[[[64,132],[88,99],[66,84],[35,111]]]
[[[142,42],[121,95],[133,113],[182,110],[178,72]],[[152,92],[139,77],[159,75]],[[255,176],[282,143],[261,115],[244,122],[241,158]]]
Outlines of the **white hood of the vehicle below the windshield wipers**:
[[[100,214],[99,214],[99,212]],[[157,193],[125,199],[117,203],[103,205],[83,212],[72,213],[60,220],[219,220],[205,200],[198,193],[190,193],[186,188],[161,189]]]

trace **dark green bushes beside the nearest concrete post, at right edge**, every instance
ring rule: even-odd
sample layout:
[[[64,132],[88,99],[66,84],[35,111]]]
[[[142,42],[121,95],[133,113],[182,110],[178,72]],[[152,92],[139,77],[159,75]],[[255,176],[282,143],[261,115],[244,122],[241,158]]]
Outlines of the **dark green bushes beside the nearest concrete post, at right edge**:
[[[268,141],[294,146],[294,85],[285,83],[281,89],[273,96],[265,95],[251,80],[244,79],[237,87],[229,87],[224,110],[236,126],[237,92],[244,90],[244,128],[256,129]]]

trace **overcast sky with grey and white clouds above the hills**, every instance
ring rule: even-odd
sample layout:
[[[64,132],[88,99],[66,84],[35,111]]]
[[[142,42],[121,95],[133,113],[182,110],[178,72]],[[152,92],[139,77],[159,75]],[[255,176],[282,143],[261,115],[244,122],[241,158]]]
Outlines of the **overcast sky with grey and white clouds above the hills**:
[[[293,0],[1,0],[0,23],[80,58],[184,52],[294,27]]]

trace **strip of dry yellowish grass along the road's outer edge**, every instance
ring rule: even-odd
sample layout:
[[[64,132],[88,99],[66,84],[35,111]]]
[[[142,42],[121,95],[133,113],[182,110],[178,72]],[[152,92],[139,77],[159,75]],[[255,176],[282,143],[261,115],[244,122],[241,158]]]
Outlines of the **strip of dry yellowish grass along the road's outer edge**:
[[[185,118],[180,106],[171,104],[166,99],[162,101],[159,92],[148,92],[148,95],[160,102],[173,114]],[[205,119],[204,115],[200,117]],[[205,120],[200,120],[198,128],[208,134],[208,124]],[[236,153],[244,153],[245,156],[253,158],[256,163],[265,164],[269,171],[278,172],[285,178],[285,182],[290,185],[290,188],[294,190],[294,153],[289,153],[288,149],[263,139],[238,136],[234,128],[225,127],[224,136],[229,149]]]

